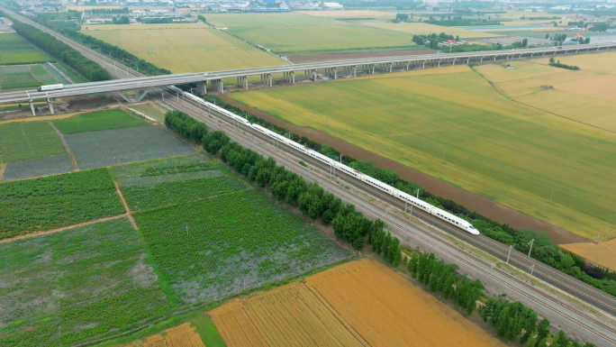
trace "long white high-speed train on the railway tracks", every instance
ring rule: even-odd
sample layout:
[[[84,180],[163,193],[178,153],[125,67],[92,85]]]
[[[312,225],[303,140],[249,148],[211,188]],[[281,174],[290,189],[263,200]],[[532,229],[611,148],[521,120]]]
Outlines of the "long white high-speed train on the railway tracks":
[[[396,189],[394,187],[391,187],[375,178],[371,178],[361,172],[359,172],[356,169],[350,168],[347,165],[344,165],[336,160],[332,160],[330,157],[326,157],[324,155],[322,155],[319,152],[310,150],[309,148],[304,147],[302,144],[294,142],[293,140],[287,139],[285,138],[285,136],[282,136],[276,132],[272,132],[258,124],[255,123],[249,123],[248,120],[240,117],[237,114],[234,114],[230,111],[225,110],[222,107],[219,107],[217,105],[213,105],[211,103],[206,102],[204,99],[198,97],[198,96],[194,96],[190,93],[184,92],[182,90],[180,90],[177,87],[171,87],[174,91],[178,92],[178,93],[182,93],[184,94],[184,96],[188,97],[191,100],[194,100],[197,103],[200,103],[202,105],[205,105],[207,107],[210,107],[216,111],[218,111],[221,114],[224,114],[225,116],[231,118],[234,121],[237,121],[239,123],[243,123],[246,126],[251,127],[252,129],[261,132],[263,134],[265,134],[266,136],[268,136],[269,138],[272,139],[276,139],[276,141],[278,142],[282,142],[285,145],[293,148],[295,151],[301,151],[302,153],[313,157],[315,160],[319,160],[327,165],[330,165],[331,167],[335,168],[335,169],[339,169],[340,172],[345,173],[346,175],[352,177],[352,178],[356,178],[359,179],[362,182],[367,183],[368,185],[372,186],[372,187],[376,187],[376,189],[382,190],[385,193],[394,196],[400,200],[405,201],[408,204],[411,204],[413,206],[415,206],[416,208],[421,209],[422,211],[425,211],[427,213],[429,213],[430,215],[434,215],[435,217],[439,218],[440,220],[448,223],[448,224],[452,224],[454,226],[457,226],[458,228],[464,230],[467,233],[471,233],[473,235],[478,235],[479,231],[476,230],[476,228],[473,226],[473,224],[468,223],[467,221],[465,221],[462,218],[457,217],[456,215],[451,215],[450,213],[448,213],[447,211],[443,211],[440,208],[430,205],[428,203],[426,203],[425,201],[418,199],[417,197],[411,196],[409,194],[404,193],[403,191]]]

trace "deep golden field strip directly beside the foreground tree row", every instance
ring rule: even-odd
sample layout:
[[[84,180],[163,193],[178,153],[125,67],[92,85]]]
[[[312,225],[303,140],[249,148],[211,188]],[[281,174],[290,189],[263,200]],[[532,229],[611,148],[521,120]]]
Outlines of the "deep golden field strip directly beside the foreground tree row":
[[[504,346],[394,270],[352,261],[306,279],[370,346]]]

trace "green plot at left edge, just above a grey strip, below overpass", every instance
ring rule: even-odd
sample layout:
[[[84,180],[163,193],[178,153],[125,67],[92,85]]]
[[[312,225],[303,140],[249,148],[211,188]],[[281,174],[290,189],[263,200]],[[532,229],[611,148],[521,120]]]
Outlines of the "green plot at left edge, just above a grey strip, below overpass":
[[[0,124],[0,133],[0,163],[66,154],[47,122]]]

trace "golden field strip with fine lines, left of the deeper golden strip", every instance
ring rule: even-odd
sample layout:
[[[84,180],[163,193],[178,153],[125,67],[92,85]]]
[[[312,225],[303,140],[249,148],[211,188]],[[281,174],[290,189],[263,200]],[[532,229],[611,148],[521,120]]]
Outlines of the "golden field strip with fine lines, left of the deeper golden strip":
[[[251,297],[243,304],[232,302],[211,315],[228,347],[367,345],[299,282]]]

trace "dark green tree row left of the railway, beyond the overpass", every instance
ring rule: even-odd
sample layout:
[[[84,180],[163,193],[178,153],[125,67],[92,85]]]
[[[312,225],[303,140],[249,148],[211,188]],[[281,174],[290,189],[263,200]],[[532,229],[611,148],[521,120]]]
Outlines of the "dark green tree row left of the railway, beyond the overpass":
[[[8,17],[0,11],[0,15]],[[10,17],[8,17],[10,18]],[[23,36],[28,41],[31,41],[41,50],[49,52],[52,56],[65,62],[69,67],[75,68],[78,73],[91,81],[104,81],[111,79],[109,72],[102,68],[98,63],[87,59],[77,50],[74,50],[68,44],[59,41],[47,32],[33,27],[29,24],[24,24],[10,18],[13,21],[13,29],[15,32]]]

